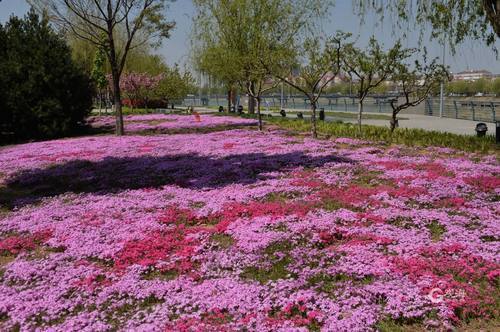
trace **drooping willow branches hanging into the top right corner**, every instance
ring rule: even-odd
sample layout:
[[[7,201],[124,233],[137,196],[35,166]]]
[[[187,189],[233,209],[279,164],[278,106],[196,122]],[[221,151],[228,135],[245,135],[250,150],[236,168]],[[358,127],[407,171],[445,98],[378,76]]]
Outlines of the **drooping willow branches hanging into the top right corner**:
[[[495,47],[495,39],[500,37],[499,0],[358,1],[356,9],[361,15],[374,11],[382,19],[397,17],[398,27],[411,22],[423,32],[430,25],[431,36],[447,40],[452,50],[467,38],[482,39]]]

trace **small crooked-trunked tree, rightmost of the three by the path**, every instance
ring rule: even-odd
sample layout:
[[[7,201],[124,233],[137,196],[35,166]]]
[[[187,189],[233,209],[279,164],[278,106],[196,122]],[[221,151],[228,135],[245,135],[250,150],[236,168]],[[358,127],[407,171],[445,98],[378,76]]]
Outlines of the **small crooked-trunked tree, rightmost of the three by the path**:
[[[425,56],[423,58],[426,59]],[[391,133],[396,128],[396,117],[401,111],[419,105],[433,90],[439,87],[441,82],[448,78],[448,71],[444,66],[437,64],[437,59],[432,60],[429,64],[415,61],[413,66],[404,62],[397,63],[390,79],[397,84],[403,102],[399,103],[399,99],[392,99],[390,102],[392,108]]]

